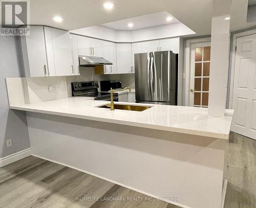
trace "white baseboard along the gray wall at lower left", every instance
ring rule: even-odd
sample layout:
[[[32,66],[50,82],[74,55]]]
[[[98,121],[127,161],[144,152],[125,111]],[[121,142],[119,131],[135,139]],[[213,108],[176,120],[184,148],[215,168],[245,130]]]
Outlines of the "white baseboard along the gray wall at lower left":
[[[0,158],[0,168],[31,155],[31,148]]]

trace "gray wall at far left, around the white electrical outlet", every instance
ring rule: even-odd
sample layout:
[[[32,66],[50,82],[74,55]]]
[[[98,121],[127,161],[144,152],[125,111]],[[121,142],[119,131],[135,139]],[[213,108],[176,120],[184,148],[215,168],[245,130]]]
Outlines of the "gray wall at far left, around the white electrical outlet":
[[[10,110],[5,78],[24,77],[19,37],[0,36],[0,158],[30,147],[26,113]],[[12,147],[6,140],[12,139]]]

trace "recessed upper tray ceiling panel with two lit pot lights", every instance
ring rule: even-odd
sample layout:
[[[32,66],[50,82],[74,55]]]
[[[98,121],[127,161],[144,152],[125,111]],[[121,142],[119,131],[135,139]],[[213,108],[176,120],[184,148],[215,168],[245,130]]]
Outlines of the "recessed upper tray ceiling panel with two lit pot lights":
[[[171,21],[166,21],[166,17],[172,17]],[[134,26],[129,28],[127,25],[132,22]],[[154,26],[174,24],[180,22],[178,19],[170,15],[168,12],[158,12],[154,14],[147,14],[143,16],[123,19],[119,21],[113,21],[106,24],[102,24],[102,26],[111,28],[114,30],[138,30],[142,28],[150,28]]]

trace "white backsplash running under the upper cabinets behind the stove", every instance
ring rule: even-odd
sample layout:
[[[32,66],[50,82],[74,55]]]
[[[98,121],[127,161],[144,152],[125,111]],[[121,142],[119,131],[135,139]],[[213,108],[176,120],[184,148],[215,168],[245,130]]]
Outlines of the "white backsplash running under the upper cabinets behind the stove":
[[[8,78],[6,83],[10,103],[38,103],[72,97],[71,82],[98,81],[100,85],[102,80],[121,80],[122,87],[135,88],[134,74],[97,75],[94,67],[81,67],[79,76]],[[56,91],[50,92],[49,85],[55,85]]]

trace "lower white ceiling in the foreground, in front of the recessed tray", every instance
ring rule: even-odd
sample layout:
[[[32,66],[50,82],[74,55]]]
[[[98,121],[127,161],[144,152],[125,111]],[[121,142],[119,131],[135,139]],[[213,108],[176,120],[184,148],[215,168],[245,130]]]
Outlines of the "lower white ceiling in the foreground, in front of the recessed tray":
[[[211,0],[113,0],[116,8],[105,11],[105,0],[30,0],[30,24],[75,30],[107,22],[167,11],[198,35],[210,34]],[[65,19],[58,24],[51,17]]]

